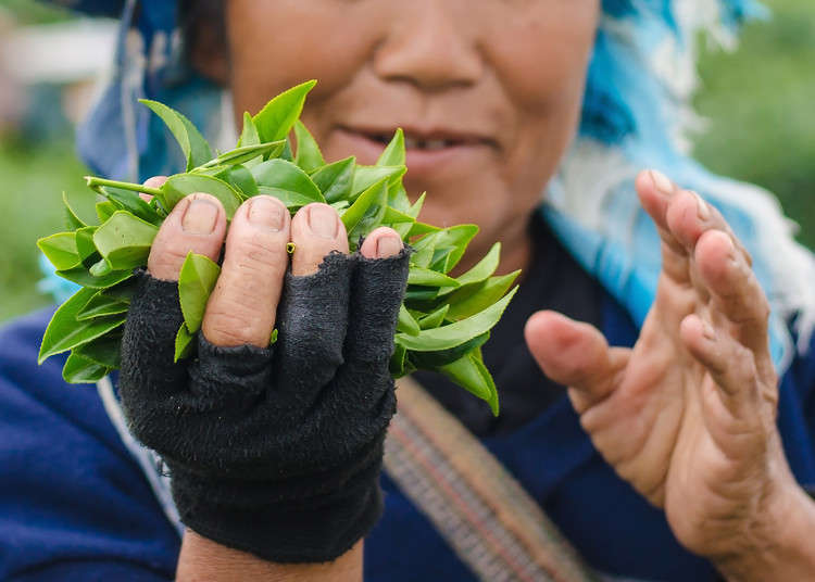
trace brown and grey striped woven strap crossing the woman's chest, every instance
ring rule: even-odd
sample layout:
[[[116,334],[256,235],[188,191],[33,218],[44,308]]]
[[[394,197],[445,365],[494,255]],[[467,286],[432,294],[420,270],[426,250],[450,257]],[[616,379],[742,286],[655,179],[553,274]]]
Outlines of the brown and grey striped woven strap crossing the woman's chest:
[[[518,482],[415,380],[399,380],[397,398],[385,469],[480,580],[598,580]]]

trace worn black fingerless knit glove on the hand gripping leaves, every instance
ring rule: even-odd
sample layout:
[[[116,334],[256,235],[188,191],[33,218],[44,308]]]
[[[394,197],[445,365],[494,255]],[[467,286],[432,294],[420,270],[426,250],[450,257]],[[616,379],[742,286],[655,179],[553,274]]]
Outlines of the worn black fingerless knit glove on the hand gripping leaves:
[[[409,254],[333,253],[316,274],[287,276],[275,344],[218,347],[199,333],[197,357],[178,364],[177,284],[140,276],[120,395],[190,529],[267,560],[319,562],[373,528]]]

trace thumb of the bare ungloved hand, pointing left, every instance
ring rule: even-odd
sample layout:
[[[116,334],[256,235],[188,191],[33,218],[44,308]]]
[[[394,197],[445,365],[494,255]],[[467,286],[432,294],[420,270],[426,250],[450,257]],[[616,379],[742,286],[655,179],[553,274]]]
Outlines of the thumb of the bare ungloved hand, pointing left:
[[[579,414],[614,389],[620,356],[627,359],[628,350],[611,350],[595,327],[555,312],[532,315],[524,336],[543,374],[572,389]]]

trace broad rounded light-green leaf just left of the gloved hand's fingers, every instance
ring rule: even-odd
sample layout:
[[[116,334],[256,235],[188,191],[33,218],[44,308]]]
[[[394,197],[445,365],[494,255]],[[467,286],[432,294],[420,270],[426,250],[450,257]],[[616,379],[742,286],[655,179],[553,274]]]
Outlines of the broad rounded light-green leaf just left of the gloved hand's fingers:
[[[158,233],[156,226],[118,211],[93,233],[93,244],[112,269],[134,269],[147,264]]]

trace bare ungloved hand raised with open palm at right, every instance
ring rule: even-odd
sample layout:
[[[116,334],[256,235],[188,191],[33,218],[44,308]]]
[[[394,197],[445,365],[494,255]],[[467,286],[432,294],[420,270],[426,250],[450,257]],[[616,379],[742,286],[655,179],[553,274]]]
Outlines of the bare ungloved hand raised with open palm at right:
[[[776,428],[767,300],[723,217],[656,173],[637,192],[662,239],[656,299],[632,350],[552,312],[527,342],[568,385],[594,446],[695,554],[769,543],[794,488]]]

